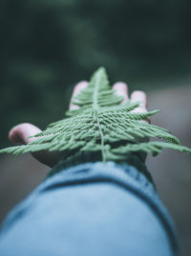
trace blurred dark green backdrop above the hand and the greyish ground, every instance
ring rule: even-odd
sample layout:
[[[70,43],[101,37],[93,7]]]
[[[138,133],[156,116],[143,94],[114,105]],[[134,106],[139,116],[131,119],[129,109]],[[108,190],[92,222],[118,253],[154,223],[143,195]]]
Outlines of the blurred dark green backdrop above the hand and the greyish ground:
[[[62,118],[74,84],[100,65],[132,90],[191,81],[190,10],[189,0],[1,0],[1,148],[15,124]]]

